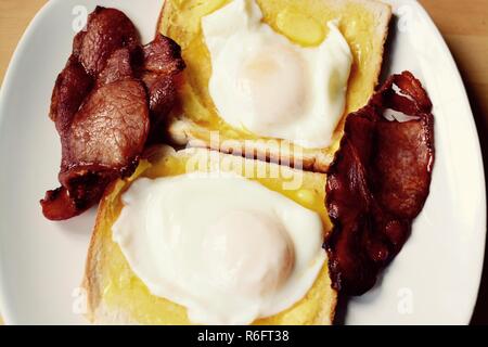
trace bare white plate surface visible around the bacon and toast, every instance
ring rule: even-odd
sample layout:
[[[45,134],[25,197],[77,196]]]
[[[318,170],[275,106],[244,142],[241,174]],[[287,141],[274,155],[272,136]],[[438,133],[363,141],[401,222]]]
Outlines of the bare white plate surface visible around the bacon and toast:
[[[95,213],[50,222],[38,203],[46,190],[57,187],[61,151],[48,110],[70,52],[74,9],[80,2],[51,0],[39,12],[0,94],[0,306],[7,323],[85,323],[77,287]],[[125,11],[144,42],[154,34],[162,5],[159,0],[84,3],[88,11],[95,3]],[[459,72],[433,22],[415,1],[391,3],[397,23],[387,73],[410,69],[424,82],[434,103],[437,157],[432,192],[412,236],[381,283],[350,301],[346,323],[465,324],[485,248],[477,133]]]

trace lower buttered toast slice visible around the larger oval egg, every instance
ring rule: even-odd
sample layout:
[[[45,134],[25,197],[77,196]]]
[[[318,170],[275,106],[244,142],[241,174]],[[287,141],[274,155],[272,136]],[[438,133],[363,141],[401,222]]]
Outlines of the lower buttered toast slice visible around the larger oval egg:
[[[214,172],[216,168],[233,171],[317,211],[323,221],[324,237],[331,230],[323,203],[326,181],[323,174],[295,170],[205,149],[175,152],[169,146],[162,146],[151,150],[146,157],[132,177],[114,182],[100,203],[84,280],[88,295],[87,317],[93,323],[191,324],[184,307],[149,292],[130,269],[119,246],[112,241],[112,224],[123,208],[120,195],[138,177]],[[300,301],[279,314],[259,319],[255,324],[331,324],[336,299],[337,293],[331,287],[325,262],[313,286]]]

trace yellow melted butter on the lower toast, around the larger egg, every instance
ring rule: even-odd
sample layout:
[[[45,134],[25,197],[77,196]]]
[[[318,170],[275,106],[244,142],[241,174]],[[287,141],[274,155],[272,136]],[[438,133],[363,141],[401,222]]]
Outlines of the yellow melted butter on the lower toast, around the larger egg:
[[[244,160],[242,159],[242,162]],[[224,163],[219,164],[221,169],[223,169],[223,165]],[[211,165],[208,164],[206,167],[200,166],[197,169],[205,171],[210,167]],[[270,170],[274,170],[277,167],[259,162],[258,166],[251,170],[242,165],[231,165],[229,170],[248,179],[257,180],[268,189],[282,193],[304,207],[317,211],[323,220],[324,232],[328,232],[331,229],[331,223],[323,203],[325,176],[319,174],[305,175],[297,189],[285,190],[283,182],[290,181],[290,176],[285,177],[284,174],[280,172],[278,178],[259,178],[269,176]],[[132,272],[119,246],[112,241],[112,224],[123,208],[120,195],[134,179],[138,177],[176,176],[188,171],[192,171],[188,155],[166,155],[163,159],[158,159],[156,164],[143,160],[131,178],[125,181],[119,180],[116,183],[113,192],[103,200],[99,211],[100,228],[97,232],[102,234],[95,240],[101,242],[102,245],[100,253],[102,259],[98,265],[100,267],[98,271],[102,271],[100,277],[102,283],[100,283],[101,287],[99,288],[102,299],[108,307],[123,309],[137,322],[143,324],[191,324],[191,322],[188,320],[184,307],[152,295],[144,283]],[[274,170],[274,172],[277,171]],[[287,169],[287,172],[290,174],[290,169]],[[304,230],[304,232],[307,231]],[[260,319],[255,324],[310,324],[321,314],[321,307],[324,303],[335,303],[335,292],[331,288],[326,265],[306,297],[290,309],[277,316]]]

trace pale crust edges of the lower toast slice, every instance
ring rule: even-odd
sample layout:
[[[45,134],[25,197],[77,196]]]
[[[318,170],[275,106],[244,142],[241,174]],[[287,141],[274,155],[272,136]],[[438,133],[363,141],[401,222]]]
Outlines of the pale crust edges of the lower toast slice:
[[[163,159],[165,155],[171,156],[184,156],[188,155],[189,151],[198,151],[198,152],[208,152],[208,150],[204,149],[193,149],[187,151],[175,152],[172,149],[167,146],[165,149],[165,154],[163,156],[159,155],[159,159]],[[239,156],[232,156],[223,153],[218,153],[220,159],[227,159],[227,163],[232,163],[231,165],[242,165],[245,162],[249,162],[252,159],[246,159]],[[229,162],[230,160],[230,162]],[[252,160],[257,165],[274,165],[269,163],[262,163],[259,160]],[[307,175],[307,179],[310,182],[323,182],[324,178],[322,174],[316,172],[303,172],[300,170],[295,170],[293,168],[280,166],[280,169],[285,170],[284,175],[295,174],[304,174]],[[110,204],[113,203],[111,201],[111,194],[114,190],[124,189],[123,180],[118,180],[113,182],[105,191],[104,196],[102,197],[99,206],[99,213],[97,215],[95,226],[93,228],[92,237],[90,241],[86,268],[85,268],[85,277],[82,280],[82,287],[87,293],[87,319],[95,324],[139,324],[130,313],[128,313],[124,307],[113,308],[108,307],[106,303],[103,300],[103,275],[104,275],[104,266],[105,266],[105,257],[110,256],[105,253],[104,248],[104,240],[106,236],[104,235],[104,230],[106,223],[105,211],[110,208]],[[328,278],[326,283],[330,285],[330,279]],[[337,304],[337,293],[329,287],[324,290],[326,292],[326,297],[323,298],[320,311],[317,313],[313,324],[317,325],[330,325],[334,321],[335,316],[335,307]]]

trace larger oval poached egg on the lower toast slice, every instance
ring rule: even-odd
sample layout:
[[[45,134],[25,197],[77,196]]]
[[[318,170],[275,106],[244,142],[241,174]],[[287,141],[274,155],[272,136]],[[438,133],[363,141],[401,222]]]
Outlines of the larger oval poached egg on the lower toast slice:
[[[112,227],[153,295],[193,323],[249,324],[300,300],[326,255],[320,216],[236,174],[138,179]]]

